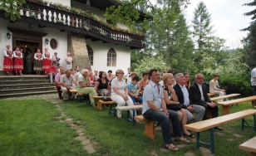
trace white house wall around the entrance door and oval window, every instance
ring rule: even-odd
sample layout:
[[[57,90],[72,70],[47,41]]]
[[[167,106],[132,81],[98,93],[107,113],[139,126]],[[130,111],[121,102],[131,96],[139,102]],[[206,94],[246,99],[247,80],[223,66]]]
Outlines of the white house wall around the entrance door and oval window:
[[[27,31],[32,31],[32,32],[44,32],[47,33],[47,36],[42,37],[42,49],[45,47],[48,47],[49,51],[51,52],[51,56],[53,55],[54,52],[58,53],[58,56],[61,58],[61,64],[62,66],[65,66],[65,57],[67,53],[67,32],[60,32],[57,29],[52,29],[52,28],[38,28],[37,26],[33,26],[33,28],[29,27],[29,24],[25,24],[23,22],[15,22],[11,23],[7,20],[3,20],[0,18],[0,71],[2,71],[3,68],[3,50],[6,45],[10,45],[11,49],[12,47],[12,37],[10,40],[7,39],[7,27],[12,27],[12,28],[17,28],[21,30],[27,30]],[[12,34],[12,32],[10,32]],[[51,39],[54,38],[57,41],[57,48],[53,50],[50,46],[50,43],[46,45],[45,39],[48,39],[51,41]],[[42,50],[41,50],[42,51]]]

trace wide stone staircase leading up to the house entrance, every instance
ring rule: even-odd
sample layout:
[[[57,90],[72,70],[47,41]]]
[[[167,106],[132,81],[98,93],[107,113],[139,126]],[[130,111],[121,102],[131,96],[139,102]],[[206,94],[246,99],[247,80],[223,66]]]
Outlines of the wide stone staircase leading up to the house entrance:
[[[0,99],[13,96],[56,93],[55,83],[48,76],[0,76]]]

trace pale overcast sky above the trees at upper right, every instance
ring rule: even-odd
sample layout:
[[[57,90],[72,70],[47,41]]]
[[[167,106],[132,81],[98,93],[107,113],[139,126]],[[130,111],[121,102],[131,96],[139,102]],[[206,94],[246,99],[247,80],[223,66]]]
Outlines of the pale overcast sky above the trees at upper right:
[[[252,22],[251,16],[244,16],[244,12],[255,9],[255,7],[242,5],[253,2],[253,0],[190,0],[191,4],[185,9],[185,17],[189,25],[191,25],[194,10],[200,1],[204,2],[211,15],[214,35],[224,38],[225,46],[231,49],[242,47],[240,40],[246,37],[248,32],[239,30],[249,27],[249,22]]]

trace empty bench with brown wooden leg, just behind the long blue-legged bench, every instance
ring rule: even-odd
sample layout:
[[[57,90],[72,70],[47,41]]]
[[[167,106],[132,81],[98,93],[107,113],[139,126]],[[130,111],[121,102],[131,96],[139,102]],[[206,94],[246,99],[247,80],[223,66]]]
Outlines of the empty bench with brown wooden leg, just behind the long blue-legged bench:
[[[217,104],[222,106],[222,115],[229,115],[231,105],[241,103],[241,102],[251,101],[251,100],[256,100],[256,95],[249,96],[246,98],[240,98],[240,99],[236,99],[236,100],[228,100],[228,101],[218,102]]]

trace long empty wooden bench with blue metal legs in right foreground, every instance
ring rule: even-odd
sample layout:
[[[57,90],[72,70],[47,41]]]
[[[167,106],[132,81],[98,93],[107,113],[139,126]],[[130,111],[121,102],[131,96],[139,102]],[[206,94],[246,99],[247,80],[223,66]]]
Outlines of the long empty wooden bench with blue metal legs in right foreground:
[[[255,118],[256,110],[242,110],[230,115],[219,116],[217,118],[207,119],[207,120],[199,121],[193,124],[186,124],[185,129],[196,132],[196,149],[199,149],[199,144],[209,145],[211,149],[211,153],[214,154],[214,127],[220,126],[222,124],[228,124],[238,119],[242,119],[242,129],[244,129],[244,126],[249,126],[244,121],[244,118],[250,115],[254,115],[254,131],[256,132],[256,118]],[[244,124],[244,122],[246,124]],[[249,126],[249,127],[252,127],[252,126]],[[209,130],[210,144],[200,141],[200,132],[207,129],[210,129]]]

